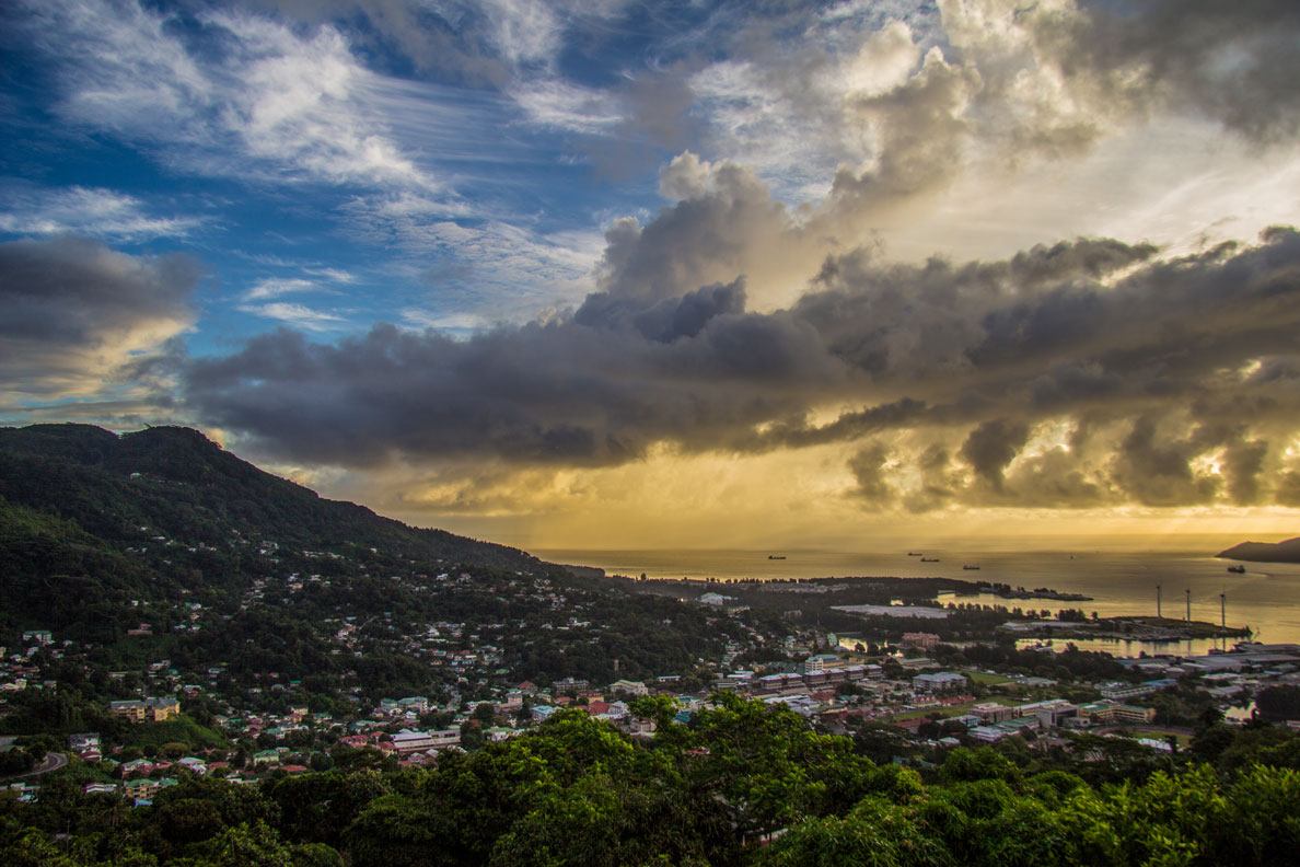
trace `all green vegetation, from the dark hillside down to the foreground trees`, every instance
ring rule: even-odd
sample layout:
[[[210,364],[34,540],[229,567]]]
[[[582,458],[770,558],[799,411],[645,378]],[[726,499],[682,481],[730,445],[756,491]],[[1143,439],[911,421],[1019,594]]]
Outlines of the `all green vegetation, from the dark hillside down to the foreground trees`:
[[[673,699],[638,699],[651,740],[560,710],[488,742],[503,684],[672,675],[693,692],[720,659],[788,671],[796,642],[862,625],[833,604],[888,601],[900,582],[728,585],[749,610],[684,604],[679,586],[573,573],[322,500],[190,430],[0,429],[0,645],[23,651],[6,671],[31,680],[0,702],[0,731],[18,736],[0,775],[29,771],[73,732],[100,733],[117,762],[177,762],[133,771],[160,786],[140,802],[125,788],[86,794],[113,772],[94,758],[40,777],[39,792],[0,792],[0,851],[20,867],[1235,867],[1291,863],[1300,844],[1300,738],[1266,724],[1300,715],[1294,686],[1264,690],[1260,720],[1242,729],[1193,680],[1160,692],[1157,721],[1187,731],[1169,750],[1096,733],[949,750],[933,740],[965,738],[965,725],[932,708],[894,720],[930,742],[875,721],[848,737],[729,693],[685,723]],[[948,589],[919,580],[901,595],[928,602]],[[1022,614],[1034,612],[962,606],[935,627],[880,619],[879,636],[984,637]],[[1062,694],[1078,701],[1095,697],[1086,684],[1141,677],[1072,647],[940,645],[932,656],[1075,684]],[[896,659],[881,667],[905,677]],[[1013,689],[975,680],[980,698]],[[871,694],[840,688],[855,702]],[[110,699],[164,693],[183,695],[179,718],[108,712]],[[455,715],[467,751],[398,770],[378,741],[352,749],[326,734],[403,695],[434,697],[421,725]],[[526,702],[510,706],[516,719],[529,718]],[[324,720],[276,734],[242,725],[290,707]],[[257,771],[272,747],[285,762]],[[195,776],[185,770],[195,753],[263,779]]]

